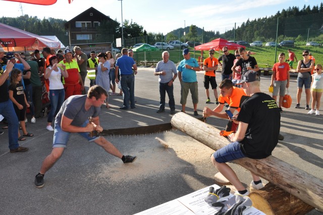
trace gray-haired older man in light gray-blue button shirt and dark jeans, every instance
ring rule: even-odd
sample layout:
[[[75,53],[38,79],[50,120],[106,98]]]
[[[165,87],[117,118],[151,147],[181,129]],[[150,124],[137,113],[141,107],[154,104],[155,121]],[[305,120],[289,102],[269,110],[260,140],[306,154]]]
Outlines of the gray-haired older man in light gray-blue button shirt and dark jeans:
[[[160,93],[160,102],[159,110],[157,113],[165,112],[165,97],[166,92],[169,97],[169,105],[171,109],[171,114],[175,114],[175,99],[174,99],[174,85],[173,82],[177,77],[177,70],[175,64],[169,60],[170,54],[168,51],[164,51],[161,55],[163,61],[157,63],[154,75],[159,75],[159,93]],[[174,74],[174,76],[173,76]]]

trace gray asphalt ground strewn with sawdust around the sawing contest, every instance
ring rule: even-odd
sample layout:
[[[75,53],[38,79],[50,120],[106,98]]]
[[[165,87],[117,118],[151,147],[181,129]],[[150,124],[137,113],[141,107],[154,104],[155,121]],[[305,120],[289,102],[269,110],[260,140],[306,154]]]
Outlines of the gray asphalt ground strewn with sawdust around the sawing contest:
[[[101,107],[100,122],[104,129],[131,128],[169,123],[170,109],[157,114],[159,107],[158,77],[154,69],[139,68],[135,77],[136,109],[120,110],[121,96],[110,96],[111,109]],[[203,73],[197,74],[199,83],[198,113],[205,104]],[[270,76],[261,76],[261,90],[268,93]],[[221,75],[217,73],[217,83]],[[86,81],[89,85],[89,81]],[[281,134],[273,155],[285,162],[323,179],[323,110],[320,116],[307,115],[305,94],[301,108],[296,104],[296,78],[291,78],[289,93],[292,107],[281,114]],[[118,90],[117,90],[118,91]],[[180,84],[174,82],[176,112],[180,112]],[[211,93],[210,93],[211,94]],[[168,97],[167,97],[168,101]],[[211,101],[214,97],[211,95]],[[186,113],[193,116],[190,96]],[[27,116],[30,122],[30,116]],[[133,214],[214,183],[217,171],[209,156],[212,149],[177,131],[149,135],[107,136],[106,138],[126,154],[136,155],[133,164],[122,161],[94,143],[88,143],[78,134],[71,135],[68,148],[61,159],[45,175],[45,186],[34,185],[42,160],[50,153],[53,132],[45,129],[46,118],[27,123],[27,131],[34,137],[20,141],[29,147],[23,153],[10,153],[8,130],[0,136],[0,214]],[[208,118],[207,123],[223,129],[226,120]],[[1,126],[3,127],[3,126]],[[155,137],[166,141],[164,148]],[[240,180],[249,185],[251,175],[244,168],[230,165]],[[265,181],[264,181],[265,182]],[[311,186],[310,184],[308,186]],[[323,214],[313,210],[308,214]]]

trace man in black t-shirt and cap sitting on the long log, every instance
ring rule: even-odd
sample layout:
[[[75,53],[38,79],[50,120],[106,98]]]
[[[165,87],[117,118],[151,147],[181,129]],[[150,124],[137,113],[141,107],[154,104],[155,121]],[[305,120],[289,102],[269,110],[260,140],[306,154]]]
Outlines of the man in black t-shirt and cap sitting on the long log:
[[[238,131],[229,135],[232,143],[214,152],[211,161],[235,186],[235,194],[246,196],[249,192],[226,163],[243,157],[262,159],[271,155],[278,143],[281,116],[275,100],[270,95],[260,92],[260,77],[257,72],[249,70],[244,73],[241,84],[250,97],[242,103],[240,113],[234,120],[235,123],[239,123]],[[203,114],[206,114],[205,110]],[[252,177],[250,187],[262,188],[260,178],[254,174]]]

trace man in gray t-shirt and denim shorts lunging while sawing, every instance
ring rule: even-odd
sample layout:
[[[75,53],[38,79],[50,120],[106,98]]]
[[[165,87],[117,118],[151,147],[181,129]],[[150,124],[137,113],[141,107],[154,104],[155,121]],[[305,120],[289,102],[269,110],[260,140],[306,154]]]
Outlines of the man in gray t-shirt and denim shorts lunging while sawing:
[[[91,132],[102,132],[99,114],[107,92],[100,86],[90,87],[87,95],[70,96],[62,105],[55,120],[54,138],[51,153],[44,159],[39,173],[35,177],[38,188],[44,186],[44,174],[57,162],[66,148],[71,133],[78,133],[88,141],[93,141],[104,150],[122,159],[123,163],[132,163],[135,156],[124,156],[111,142],[102,136],[92,136]],[[89,119],[91,122],[89,122]]]

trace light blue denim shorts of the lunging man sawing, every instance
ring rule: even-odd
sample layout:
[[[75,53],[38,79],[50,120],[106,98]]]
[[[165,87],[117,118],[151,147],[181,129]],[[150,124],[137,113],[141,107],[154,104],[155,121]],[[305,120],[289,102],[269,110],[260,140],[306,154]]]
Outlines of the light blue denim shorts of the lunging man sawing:
[[[86,125],[89,123],[89,121],[86,121],[83,125],[80,127],[86,127]],[[62,130],[61,126],[57,121],[55,121],[55,128],[54,128],[54,138],[52,140],[52,147],[53,148],[66,148],[67,142],[70,138],[69,132],[65,132]],[[80,132],[78,133],[88,141],[94,141],[100,137],[90,137],[89,132]]]

